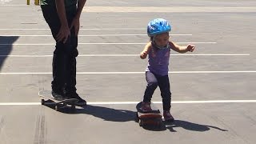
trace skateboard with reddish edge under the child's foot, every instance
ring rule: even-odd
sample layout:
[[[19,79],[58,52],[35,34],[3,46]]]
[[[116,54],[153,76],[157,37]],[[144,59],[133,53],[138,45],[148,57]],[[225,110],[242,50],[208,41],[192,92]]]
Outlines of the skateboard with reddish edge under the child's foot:
[[[140,109],[142,107],[142,102],[139,102],[136,106],[137,109],[137,118],[139,126],[146,126],[146,125],[162,125],[162,114],[157,107],[154,106],[154,103],[151,102],[150,104],[152,111],[149,112],[142,112]]]

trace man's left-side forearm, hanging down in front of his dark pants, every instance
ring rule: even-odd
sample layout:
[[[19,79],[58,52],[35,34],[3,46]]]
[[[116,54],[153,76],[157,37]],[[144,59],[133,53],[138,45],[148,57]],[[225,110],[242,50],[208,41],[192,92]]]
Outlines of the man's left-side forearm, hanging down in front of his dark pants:
[[[64,0],[55,0],[58,18],[63,26],[68,26]]]

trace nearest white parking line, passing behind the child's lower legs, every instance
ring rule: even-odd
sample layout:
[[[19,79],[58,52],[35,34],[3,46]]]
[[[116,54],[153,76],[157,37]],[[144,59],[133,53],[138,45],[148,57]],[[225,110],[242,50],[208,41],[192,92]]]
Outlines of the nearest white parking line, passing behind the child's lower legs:
[[[254,103],[256,100],[173,101],[172,104]],[[88,105],[135,105],[138,102],[87,102]],[[162,104],[162,102],[154,102]],[[0,106],[38,106],[41,102],[0,102]]]

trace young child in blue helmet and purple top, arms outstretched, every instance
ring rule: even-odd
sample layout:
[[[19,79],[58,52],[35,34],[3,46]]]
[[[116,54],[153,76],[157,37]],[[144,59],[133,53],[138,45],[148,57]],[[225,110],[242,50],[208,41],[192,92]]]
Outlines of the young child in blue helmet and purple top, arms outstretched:
[[[145,59],[149,55],[148,64],[146,66],[146,90],[142,102],[141,110],[147,112],[152,110],[150,102],[154,90],[159,86],[162,96],[163,117],[166,121],[174,121],[170,114],[170,82],[168,77],[168,66],[170,58],[170,49],[178,53],[192,52],[193,45],[178,46],[174,42],[170,42],[169,32],[170,24],[162,18],[156,18],[148,23],[147,34],[150,42],[146,44],[144,50],[140,54],[140,58]]]

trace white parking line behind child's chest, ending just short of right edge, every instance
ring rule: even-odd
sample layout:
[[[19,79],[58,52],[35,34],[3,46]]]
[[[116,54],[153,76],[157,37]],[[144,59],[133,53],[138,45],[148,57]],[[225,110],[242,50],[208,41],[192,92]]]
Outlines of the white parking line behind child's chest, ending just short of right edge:
[[[0,55],[0,57],[44,58],[53,55]],[[138,57],[139,54],[79,54],[78,57]],[[250,56],[250,54],[170,54],[170,56]]]

